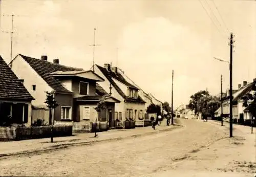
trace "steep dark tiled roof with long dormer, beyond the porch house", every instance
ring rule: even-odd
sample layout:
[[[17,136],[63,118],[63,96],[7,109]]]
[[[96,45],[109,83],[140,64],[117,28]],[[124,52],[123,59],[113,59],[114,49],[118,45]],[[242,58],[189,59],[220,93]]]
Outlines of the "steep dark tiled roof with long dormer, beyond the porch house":
[[[129,102],[141,102],[141,103],[145,103],[145,101],[140,97],[138,96],[138,98],[130,98],[130,97],[127,97],[123,92],[122,90],[119,88],[119,86],[116,84],[116,82],[112,79],[115,78],[116,80],[122,82],[123,84],[129,86],[129,87],[132,87],[134,89],[137,89],[139,90],[136,86],[132,85],[131,83],[127,82],[123,76],[120,74],[120,73],[114,73],[112,71],[107,71],[105,68],[103,67],[100,67],[99,65],[95,64],[98,69],[101,71],[101,73],[110,81],[110,83],[115,87],[115,89],[117,90],[117,92],[126,100],[126,101],[129,101]],[[111,73],[111,77],[110,77],[110,73]]]

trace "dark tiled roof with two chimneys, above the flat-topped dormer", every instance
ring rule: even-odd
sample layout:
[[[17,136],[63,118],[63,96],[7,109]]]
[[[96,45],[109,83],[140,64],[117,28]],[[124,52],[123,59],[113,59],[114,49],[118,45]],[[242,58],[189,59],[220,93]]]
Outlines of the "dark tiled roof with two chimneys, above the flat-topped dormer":
[[[25,61],[29,63],[29,65],[35,70],[35,72],[44,79],[47,84],[52,87],[56,92],[64,92],[71,93],[67,90],[61,82],[51,75],[53,72],[57,71],[82,71],[83,69],[66,67],[61,64],[51,63],[49,61],[36,59],[32,57],[28,57],[22,54],[19,54]]]

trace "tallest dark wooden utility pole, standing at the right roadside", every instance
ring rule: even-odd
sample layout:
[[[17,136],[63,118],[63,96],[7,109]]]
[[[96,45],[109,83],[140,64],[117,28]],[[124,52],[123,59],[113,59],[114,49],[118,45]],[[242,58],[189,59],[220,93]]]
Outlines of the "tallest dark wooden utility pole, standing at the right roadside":
[[[233,60],[233,33],[230,34],[230,62],[229,62],[229,137],[233,137],[233,114],[232,114],[232,60]]]

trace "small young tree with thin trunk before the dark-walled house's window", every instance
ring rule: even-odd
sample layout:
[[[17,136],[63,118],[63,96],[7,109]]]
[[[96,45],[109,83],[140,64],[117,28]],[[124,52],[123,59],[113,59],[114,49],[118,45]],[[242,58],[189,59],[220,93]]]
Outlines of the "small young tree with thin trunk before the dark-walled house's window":
[[[52,92],[46,92],[46,106],[49,108],[49,123],[51,124],[51,143],[53,143],[53,122],[52,122],[52,109],[55,109],[58,107],[57,101],[54,99],[54,93]]]

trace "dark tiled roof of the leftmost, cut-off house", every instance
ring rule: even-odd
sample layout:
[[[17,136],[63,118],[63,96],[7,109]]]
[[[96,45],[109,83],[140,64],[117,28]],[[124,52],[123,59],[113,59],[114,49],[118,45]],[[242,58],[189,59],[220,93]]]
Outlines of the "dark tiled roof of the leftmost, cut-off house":
[[[34,98],[0,56],[0,99],[31,101]]]

